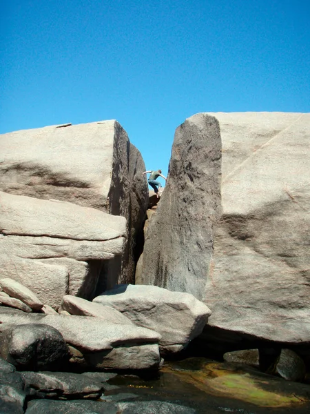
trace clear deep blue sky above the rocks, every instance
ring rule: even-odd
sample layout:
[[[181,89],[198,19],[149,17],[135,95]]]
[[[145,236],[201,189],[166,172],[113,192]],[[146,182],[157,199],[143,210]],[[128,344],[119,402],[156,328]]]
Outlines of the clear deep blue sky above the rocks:
[[[0,133],[117,119],[167,175],[197,112],[310,112],[310,0],[2,0]]]

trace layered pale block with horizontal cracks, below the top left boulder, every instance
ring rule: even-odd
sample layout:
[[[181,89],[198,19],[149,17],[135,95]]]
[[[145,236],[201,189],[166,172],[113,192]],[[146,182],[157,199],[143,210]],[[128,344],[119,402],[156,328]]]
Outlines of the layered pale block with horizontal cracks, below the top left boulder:
[[[102,260],[123,253],[126,219],[72,203],[1,192],[0,201],[3,290],[8,290],[7,278],[15,279],[54,308],[66,294],[94,297]]]

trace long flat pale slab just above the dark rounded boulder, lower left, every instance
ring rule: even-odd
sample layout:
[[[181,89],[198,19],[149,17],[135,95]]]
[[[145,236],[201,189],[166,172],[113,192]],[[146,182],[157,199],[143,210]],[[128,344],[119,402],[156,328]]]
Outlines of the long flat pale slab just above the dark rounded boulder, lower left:
[[[102,369],[105,357],[107,357],[110,366],[113,364],[115,368],[123,369],[124,365],[127,366],[129,359],[126,354],[131,356],[132,363],[137,369],[147,368],[147,364],[149,367],[158,368],[161,362],[158,351],[161,335],[133,324],[112,324],[100,318],[87,316],[42,315],[39,313],[10,314],[2,313],[1,308],[0,322],[3,329],[17,324],[53,326],[63,335],[65,342],[79,350],[83,357],[94,354],[94,364],[100,365]],[[148,348],[145,345],[154,346]],[[141,346],[145,346],[145,348],[140,349]],[[114,351],[114,348],[120,348],[121,351],[117,351],[117,349]],[[155,353],[157,355],[156,364],[154,364]],[[139,355],[143,357],[140,358]],[[99,356],[102,358],[101,361]],[[88,360],[92,363],[91,359]]]

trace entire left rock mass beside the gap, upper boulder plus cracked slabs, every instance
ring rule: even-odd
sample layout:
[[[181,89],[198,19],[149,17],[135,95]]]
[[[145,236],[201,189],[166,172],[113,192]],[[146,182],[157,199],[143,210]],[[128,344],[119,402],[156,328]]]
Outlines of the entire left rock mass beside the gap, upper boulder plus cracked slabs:
[[[54,308],[65,294],[134,282],[147,182],[118,122],[10,132],[0,152],[2,277]]]

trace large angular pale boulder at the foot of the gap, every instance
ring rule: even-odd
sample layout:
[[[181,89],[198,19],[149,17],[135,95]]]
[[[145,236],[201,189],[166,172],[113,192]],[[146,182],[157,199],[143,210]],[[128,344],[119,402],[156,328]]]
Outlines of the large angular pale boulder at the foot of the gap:
[[[158,286],[120,285],[95,297],[134,322],[161,334],[161,353],[176,353],[203,331],[211,311],[189,293]]]

